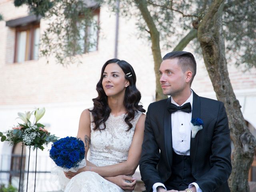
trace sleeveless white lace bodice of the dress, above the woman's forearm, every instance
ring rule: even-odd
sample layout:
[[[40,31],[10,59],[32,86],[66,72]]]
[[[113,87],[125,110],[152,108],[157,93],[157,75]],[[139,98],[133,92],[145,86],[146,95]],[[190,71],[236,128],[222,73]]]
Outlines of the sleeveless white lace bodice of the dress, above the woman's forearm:
[[[94,123],[91,123],[91,144],[88,160],[97,166],[112,165],[126,161],[135,126],[141,114],[142,112],[138,111],[131,121],[132,128],[128,131],[126,131],[128,125],[124,121],[125,114],[116,117],[110,114],[104,130],[93,130]],[[92,122],[91,112],[90,119]],[[100,128],[103,128],[103,125]]]

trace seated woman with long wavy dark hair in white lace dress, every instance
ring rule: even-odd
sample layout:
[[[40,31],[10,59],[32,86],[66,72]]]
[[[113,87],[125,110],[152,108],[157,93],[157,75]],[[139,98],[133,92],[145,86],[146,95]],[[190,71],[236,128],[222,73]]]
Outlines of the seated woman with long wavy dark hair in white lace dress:
[[[94,107],[80,116],[77,137],[90,157],[70,179],[65,192],[132,191],[132,178],[140,160],[145,110],[140,105],[135,72],[124,60],[111,59],[102,67]]]

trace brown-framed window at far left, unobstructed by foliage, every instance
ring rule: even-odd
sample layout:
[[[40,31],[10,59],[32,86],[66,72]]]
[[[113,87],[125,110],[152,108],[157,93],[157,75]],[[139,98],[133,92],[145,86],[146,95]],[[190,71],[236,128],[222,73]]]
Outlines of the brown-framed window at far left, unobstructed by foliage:
[[[16,27],[14,62],[38,59],[40,24]]]

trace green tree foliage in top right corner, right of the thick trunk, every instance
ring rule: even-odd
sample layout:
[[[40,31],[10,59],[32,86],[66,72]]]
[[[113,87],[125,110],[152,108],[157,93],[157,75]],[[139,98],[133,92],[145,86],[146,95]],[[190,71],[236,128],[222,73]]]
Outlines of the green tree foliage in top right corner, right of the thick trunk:
[[[228,0],[224,6],[224,35],[228,58],[256,66],[256,1]]]

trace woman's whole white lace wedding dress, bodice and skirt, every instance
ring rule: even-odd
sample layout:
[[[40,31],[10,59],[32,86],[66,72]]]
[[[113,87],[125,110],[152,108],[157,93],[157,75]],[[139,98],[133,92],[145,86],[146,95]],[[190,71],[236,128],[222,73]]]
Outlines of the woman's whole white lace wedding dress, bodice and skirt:
[[[106,129],[93,130],[91,123],[90,157],[88,160],[96,166],[108,166],[127,160],[132,143],[134,129],[142,112],[138,112],[132,120],[132,128],[124,122],[125,115],[110,114],[106,121]],[[92,122],[92,114],[90,113]],[[102,128],[100,126],[100,128]],[[74,176],[66,185],[65,192],[124,192],[116,184],[109,182],[99,174],[91,171],[81,172]]]

